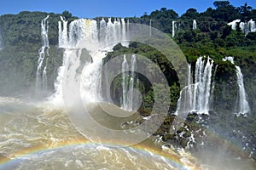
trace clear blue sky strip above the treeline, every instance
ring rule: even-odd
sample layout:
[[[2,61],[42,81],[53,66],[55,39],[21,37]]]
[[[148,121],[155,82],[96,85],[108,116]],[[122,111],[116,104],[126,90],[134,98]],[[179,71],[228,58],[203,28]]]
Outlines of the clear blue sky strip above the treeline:
[[[79,18],[96,16],[133,17],[155,9],[172,8],[181,15],[189,8],[199,12],[213,7],[215,0],[0,0],[0,14],[18,14],[20,11],[62,13],[68,10]],[[256,8],[256,0],[230,0],[235,7],[244,3]]]

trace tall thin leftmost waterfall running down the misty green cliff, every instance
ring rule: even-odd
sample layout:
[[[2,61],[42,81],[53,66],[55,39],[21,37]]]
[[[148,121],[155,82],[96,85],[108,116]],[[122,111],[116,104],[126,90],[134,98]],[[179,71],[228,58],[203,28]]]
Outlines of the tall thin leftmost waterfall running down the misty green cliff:
[[[38,69],[36,75],[36,94],[42,94],[47,90],[47,59],[49,56],[48,21],[49,15],[41,21],[42,47],[38,52]],[[45,54],[47,55],[45,61]],[[44,70],[42,71],[44,67]]]

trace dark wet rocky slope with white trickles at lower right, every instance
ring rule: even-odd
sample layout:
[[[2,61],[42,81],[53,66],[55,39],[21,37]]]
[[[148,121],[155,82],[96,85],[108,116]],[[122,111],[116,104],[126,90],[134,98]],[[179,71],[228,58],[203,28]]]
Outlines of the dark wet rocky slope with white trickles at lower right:
[[[143,117],[149,116],[147,110],[143,110]],[[209,115],[189,113],[183,127],[176,133],[170,133],[172,122],[175,116],[166,116],[165,121],[154,133],[164,143],[182,147],[196,153],[202,150],[226,150],[229,156],[234,158],[248,157],[255,159],[253,151],[256,141],[253,134],[253,127],[249,124],[247,117],[236,116],[229,111],[209,111]],[[138,121],[142,123],[142,121]],[[247,124],[249,127],[242,125]],[[234,148],[232,144],[236,144]]]

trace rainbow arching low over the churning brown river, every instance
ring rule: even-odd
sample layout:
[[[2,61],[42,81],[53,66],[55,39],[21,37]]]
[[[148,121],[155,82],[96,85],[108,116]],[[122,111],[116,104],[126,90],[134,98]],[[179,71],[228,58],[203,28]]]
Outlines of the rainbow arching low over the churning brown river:
[[[11,167],[12,165],[15,165],[15,163],[20,161],[20,158],[24,157],[24,156],[32,156],[32,155],[37,155],[40,153],[44,153],[44,152],[48,152],[51,150],[59,150],[59,149],[63,149],[63,148],[68,148],[68,147],[73,147],[73,146],[79,146],[79,145],[90,145],[90,144],[95,144],[90,142],[88,139],[74,139],[74,140],[68,140],[68,141],[63,141],[63,142],[59,142],[58,144],[56,144],[55,146],[49,146],[49,144],[42,144],[42,145],[38,145],[36,147],[32,147],[32,148],[27,148],[25,150],[21,150],[19,152],[16,152],[14,155],[14,157],[12,159],[8,159],[8,158],[0,158],[0,169],[8,169],[8,167]],[[122,146],[120,144],[113,144],[111,142],[111,144],[108,142],[106,143],[106,145],[108,146],[113,146],[113,147],[119,147]],[[190,165],[185,165],[183,164],[183,162],[181,161],[182,156],[177,155],[174,151],[173,153],[168,153],[165,152],[163,150],[159,149],[153,149],[149,146],[147,146],[147,144],[136,144],[134,146],[132,146],[132,149],[143,152],[143,153],[150,153],[153,154],[154,156],[164,156],[168,161],[172,162],[172,165],[175,165],[175,167],[177,167],[178,169],[182,169],[182,170],[187,170],[187,169],[201,169],[200,166],[196,163],[190,163]]]

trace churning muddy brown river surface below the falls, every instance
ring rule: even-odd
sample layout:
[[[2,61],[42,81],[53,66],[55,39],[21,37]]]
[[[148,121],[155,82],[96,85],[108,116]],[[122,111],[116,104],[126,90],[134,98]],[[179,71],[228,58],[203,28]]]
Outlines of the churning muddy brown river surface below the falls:
[[[100,114],[98,109],[94,114]],[[106,126],[116,120],[103,117]],[[124,146],[119,141],[96,144],[85,139],[67,112],[48,102],[0,98],[0,169],[214,169],[188,151],[149,138]]]

